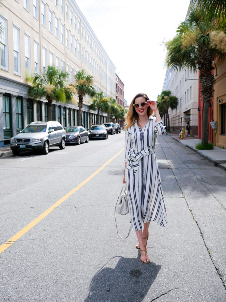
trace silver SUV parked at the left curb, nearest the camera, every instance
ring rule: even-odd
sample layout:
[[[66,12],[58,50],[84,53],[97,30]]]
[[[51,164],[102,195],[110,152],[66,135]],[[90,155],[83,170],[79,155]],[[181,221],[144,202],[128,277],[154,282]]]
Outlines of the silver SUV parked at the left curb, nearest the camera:
[[[10,148],[13,155],[19,155],[20,151],[42,151],[48,154],[49,148],[59,146],[65,148],[66,131],[56,120],[49,122],[33,122],[25,127],[19,134],[10,140]]]

